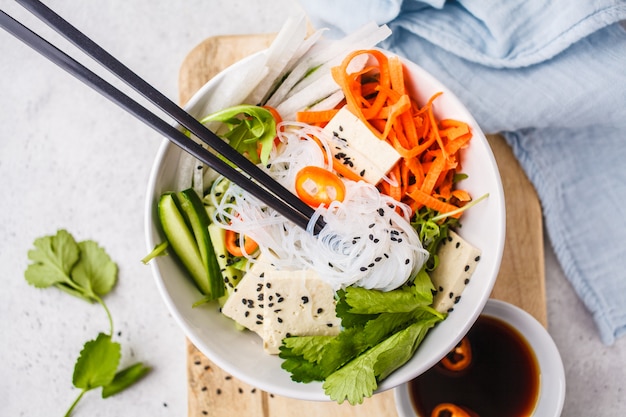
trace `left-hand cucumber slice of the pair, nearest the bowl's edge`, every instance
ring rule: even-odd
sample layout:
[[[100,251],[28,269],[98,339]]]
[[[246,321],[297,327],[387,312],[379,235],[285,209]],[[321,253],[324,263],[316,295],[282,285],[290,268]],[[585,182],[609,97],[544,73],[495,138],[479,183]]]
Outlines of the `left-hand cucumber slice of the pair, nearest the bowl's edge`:
[[[161,196],[158,213],[163,232],[174,253],[187,269],[200,292],[208,294],[210,291],[208,271],[202,261],[196,238],[179,208],[176,194],[165,193]]]

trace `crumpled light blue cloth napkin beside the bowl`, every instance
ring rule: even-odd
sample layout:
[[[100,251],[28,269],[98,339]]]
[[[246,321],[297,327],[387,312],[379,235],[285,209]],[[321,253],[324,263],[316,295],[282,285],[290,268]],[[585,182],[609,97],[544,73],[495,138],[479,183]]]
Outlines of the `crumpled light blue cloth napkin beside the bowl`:
[[[386,23],[381,47],[505,136],[601,340],[626,334],[626,1],[300,1],[330,36]]]

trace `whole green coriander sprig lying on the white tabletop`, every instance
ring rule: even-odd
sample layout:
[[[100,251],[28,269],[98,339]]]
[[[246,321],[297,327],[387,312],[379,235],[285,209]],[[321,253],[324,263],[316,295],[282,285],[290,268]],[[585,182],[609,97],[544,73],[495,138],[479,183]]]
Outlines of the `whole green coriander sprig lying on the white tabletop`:
[[[112,340],[113,317],[102,297],[115,286],[118,268],[104,249],[91,240],[77,243],[66,230],[36,239],[34,247],[28,252],[32,263],[24,273],[29,284],[37,288],[56,287],[98,303],[109,321],[109,333],[100,332],[86,342],[76,360],[72,383],[81,392],[65,413],[69,417],[86,392],[102,387],[102,397],[110,397],[133,385],[150,368],[138,362],[117,371],[121,346]]]

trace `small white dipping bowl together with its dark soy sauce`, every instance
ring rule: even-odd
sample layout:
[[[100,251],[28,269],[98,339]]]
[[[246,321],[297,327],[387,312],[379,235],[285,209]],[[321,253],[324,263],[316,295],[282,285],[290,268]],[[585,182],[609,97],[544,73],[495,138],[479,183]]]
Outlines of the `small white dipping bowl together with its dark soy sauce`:
[[[474,340],[471,345],[474,350],[472,361],[475,363],[470,364],[466,370],[450,372],[441,364],[437,364],[430,371],[395,388],[394,395],[399,417],[431,417],[430,409],[433,404],[428,405],[427,401],[448,402],[460,407],[468,407],[480,417],[490,415],[558,417],[561,415],[565,400],[563,362],[547,330],[533,316],[512,304],[489,299],[478,320],[469,330],[468,339],[470,342]],[[519,346],[514,346],[516,341],[521,342]],[[500,355],[497,352],[499,348],[508,349],[508,351]],[[526,359],[530,359],[530,363],[524,363],[522,359],[525,356],[524,350],[528,356]],[[512,354],[513,351],[516,353]],[[498,364],[498,360],[507,355],[509,355],[508,359],[513,362],[510,368]],[[518,357],[519,363],[516,363]],[[472,369],[472,366],[475,368]],[[488,371],[489,369],[493,371]],[[508,371],[504,369],[510,370],[513,375],[506,375]],[[515,384],[520,383],[522,373],[530,374],[525,375],[527,382],[522,383],[527,386],[513,388]],[[467,388],[462,385],[466,382]],[[426,391],[435,386],[436,392],[427,394]],[[463,391],[463,394],[452,398],[455,394],[451,392],[448,397],[445,392],[446,386],[450,387],[451,391]],[[499,393],[498,398],[494,398],[496,392]],[[468,398],[468,402],[473,402],[472,406],[462,403],[463,400],[460,398],[464,395]],[[420,400],[422,396],[427,396],[427,398],[423,398],[422,401]],[[525,399],[522,399],[523,396]],[[509,400],[512,401],[509,402]],[[497,405],[499,401],[506,404],[502,406],[502,410]],[[526,402],[522,407],[526,408],[525,412],[519,409],[517,411],[505,410],[516,401]],[[482,412],[479,409],[481,405],[476,404],[484,407]],[[420,410],[423,411],[420,412]],[[493,414],[487,414],[488,412]]]

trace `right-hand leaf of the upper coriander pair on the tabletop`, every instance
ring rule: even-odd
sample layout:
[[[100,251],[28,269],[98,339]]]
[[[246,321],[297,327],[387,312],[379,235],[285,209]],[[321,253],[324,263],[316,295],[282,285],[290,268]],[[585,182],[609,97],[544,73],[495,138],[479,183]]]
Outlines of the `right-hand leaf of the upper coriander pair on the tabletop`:
[[[117,280],[117,265],[93,240],[80,242],[78,246],[81,256],[72,269],[72,279],[89,296],[107,294]]]

